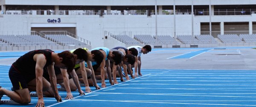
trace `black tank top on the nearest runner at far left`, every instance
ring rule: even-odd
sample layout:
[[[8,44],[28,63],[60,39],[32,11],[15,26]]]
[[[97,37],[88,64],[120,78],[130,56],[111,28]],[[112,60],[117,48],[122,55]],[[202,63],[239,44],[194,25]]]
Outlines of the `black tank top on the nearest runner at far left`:
[[[20,72],[20,74],[24,76],[35,76],[35,64],[33,57],[35,54],[44,54],[46,58],[46,64],[44,67],[49,66],[52,64],[52,50],[50,49],[41,49],[41,50],[34,50],[30,51],[15,61],[12,66]]]

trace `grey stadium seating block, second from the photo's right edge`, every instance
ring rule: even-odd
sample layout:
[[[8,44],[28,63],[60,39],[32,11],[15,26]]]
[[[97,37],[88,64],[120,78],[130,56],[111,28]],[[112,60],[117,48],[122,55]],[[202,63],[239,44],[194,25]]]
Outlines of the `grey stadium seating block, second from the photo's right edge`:
[[[222,41],[222,43],[243,42],[236,34],[218,35],[218,38]]]

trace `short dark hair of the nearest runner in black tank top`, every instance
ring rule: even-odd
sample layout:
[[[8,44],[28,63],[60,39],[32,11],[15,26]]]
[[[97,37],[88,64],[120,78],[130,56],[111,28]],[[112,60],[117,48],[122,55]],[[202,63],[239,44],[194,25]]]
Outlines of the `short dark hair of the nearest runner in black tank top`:
[[[76,65],[75,56],[70,53],[70,51],[63,51],[61,53],[58,53],[58,56],[62,58],[61,63],[65,65],[65,67],[67,68],[67,72],[71,72]]]

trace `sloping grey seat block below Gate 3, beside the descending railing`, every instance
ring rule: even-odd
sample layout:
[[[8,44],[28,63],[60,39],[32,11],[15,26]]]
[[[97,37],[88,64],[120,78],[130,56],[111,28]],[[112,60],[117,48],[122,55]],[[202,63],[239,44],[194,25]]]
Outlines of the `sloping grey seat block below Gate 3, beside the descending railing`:
[[[45,35],[45,38],[60,45],[88,45],[68,35]]]

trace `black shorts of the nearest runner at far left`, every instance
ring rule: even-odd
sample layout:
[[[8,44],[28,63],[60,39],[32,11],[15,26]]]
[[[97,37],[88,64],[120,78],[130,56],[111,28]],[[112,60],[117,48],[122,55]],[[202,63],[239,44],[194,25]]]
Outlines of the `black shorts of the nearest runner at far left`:
[[[12,87],[14,90],[28,88],[26,78],[12,66],[9,69],[9,78],[12,82]]]

